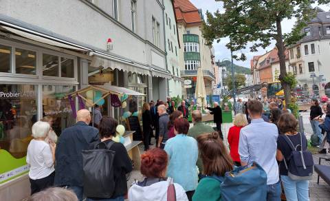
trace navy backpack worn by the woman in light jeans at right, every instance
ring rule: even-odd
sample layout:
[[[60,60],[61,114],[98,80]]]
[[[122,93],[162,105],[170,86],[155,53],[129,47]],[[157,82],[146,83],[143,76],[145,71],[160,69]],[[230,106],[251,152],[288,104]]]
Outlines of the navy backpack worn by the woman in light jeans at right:
[[[292,149],[289,158],[284,158],[284,165],[287,169],[287,176],[292,180],[311,180],[313,175],[314,160],[310,151],[307,150],[307,146],[303,146],[303,136],[300,133],[300,145],[294,146],[294,143],[287,135],[284,135],[284,139]],[[298,151],[300,147],[300,151]],[[289,164],[287,164],[287,161]]]

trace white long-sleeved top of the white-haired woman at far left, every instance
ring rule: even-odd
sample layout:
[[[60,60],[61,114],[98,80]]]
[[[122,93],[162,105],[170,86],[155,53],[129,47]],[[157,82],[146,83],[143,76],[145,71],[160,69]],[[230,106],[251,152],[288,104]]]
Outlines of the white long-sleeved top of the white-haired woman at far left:
[[[50,145],[42,140],[31,140],[26,162],[31,166],[29,176],[32,180],[45,178],[55,171]]]

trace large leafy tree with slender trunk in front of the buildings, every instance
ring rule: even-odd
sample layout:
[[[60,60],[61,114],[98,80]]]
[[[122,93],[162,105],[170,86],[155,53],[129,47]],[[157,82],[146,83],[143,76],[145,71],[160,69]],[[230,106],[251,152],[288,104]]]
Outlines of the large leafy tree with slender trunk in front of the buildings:
[[[220,1],[220,0],[215,0]],[[249,42],[251,52],[258,47],[267,47],[276,41],[280,60],[280,75],[285,102],[291,102],[291,87],[285,82],[287,71],[285,67],[285,45],[292,45],[305,36],[303,28],[315,15],[313,3],[325,4],[330,0],[222,0],[224,13],[219,10],[214,14],[206,12],[207,21],[203,25],[203,36],[210,45],[214,39],[229,37],[226,45],[232,52],[247,48]],[[292,32],[283,34],[281,22],[284,19],[296,17],[297,22]],[[245,54],[234,56],[234,59],[246,60]]]

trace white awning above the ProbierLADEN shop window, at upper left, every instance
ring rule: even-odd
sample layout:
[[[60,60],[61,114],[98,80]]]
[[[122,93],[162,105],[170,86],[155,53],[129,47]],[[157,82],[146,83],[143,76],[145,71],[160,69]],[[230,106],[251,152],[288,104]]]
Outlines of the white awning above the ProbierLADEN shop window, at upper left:
[[[14,25],[11,25],[14,26]],[[19,36],[23,36],[26,39],[31,39],[33,41],[38,41],[40,43],[45,43],[48,45],[54,45],[57,47],[63,47],[71,50],[79,50],[79,51],[91,51],[88,47],[83,47],[78,44],[70,43],[68,41],[63,41],[62,39],[56,39],[53,36],[42,34],[40,32],[35,32],[34,30],[28,30],[26,28],[22,28],[17,26],[17,28],[11,28],[5,25],[1,25],[1,28],[8,30],[14,34]]]

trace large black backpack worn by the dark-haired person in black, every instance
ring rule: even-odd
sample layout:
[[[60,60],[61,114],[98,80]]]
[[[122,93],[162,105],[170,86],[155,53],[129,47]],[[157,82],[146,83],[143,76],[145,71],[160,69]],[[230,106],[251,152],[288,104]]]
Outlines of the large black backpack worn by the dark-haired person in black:
[[[83,181],[87,197],[111,198],[115,190],[113,158],[115,151],[109,150],[115,142],[99,142],[92,150],[83,150]],[[102,145],[103,148],[100,148]]]

